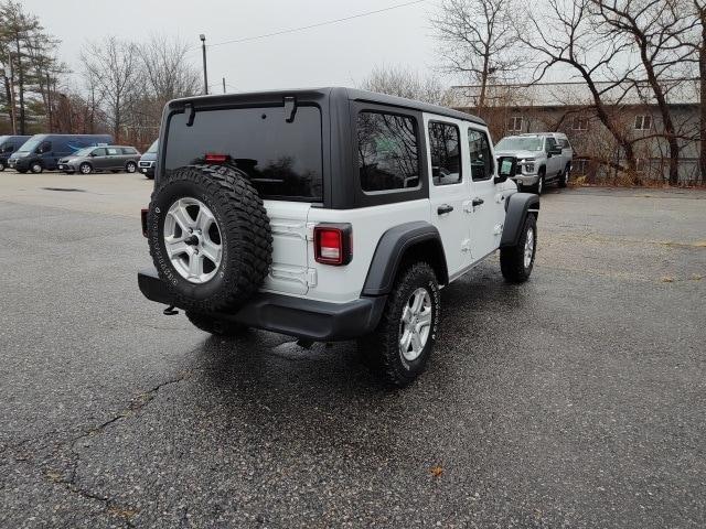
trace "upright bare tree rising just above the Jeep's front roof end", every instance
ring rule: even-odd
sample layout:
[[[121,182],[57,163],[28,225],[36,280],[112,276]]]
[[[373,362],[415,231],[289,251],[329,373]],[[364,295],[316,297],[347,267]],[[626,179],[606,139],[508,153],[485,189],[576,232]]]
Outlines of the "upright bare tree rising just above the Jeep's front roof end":
[[[514,0],[442,0],[431,19],[448,73],[480,86],[477,112],[483,114],[491,83],[507,82],[522,64]]]

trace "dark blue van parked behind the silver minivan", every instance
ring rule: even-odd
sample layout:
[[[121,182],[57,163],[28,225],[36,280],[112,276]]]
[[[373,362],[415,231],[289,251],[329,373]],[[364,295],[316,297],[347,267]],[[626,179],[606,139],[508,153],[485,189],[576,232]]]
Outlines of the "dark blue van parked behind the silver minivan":
[[[85,147],[110,143],[109,134],[34,134],[8,159],[8,166],[20,173],[53,171],[62,158]]]

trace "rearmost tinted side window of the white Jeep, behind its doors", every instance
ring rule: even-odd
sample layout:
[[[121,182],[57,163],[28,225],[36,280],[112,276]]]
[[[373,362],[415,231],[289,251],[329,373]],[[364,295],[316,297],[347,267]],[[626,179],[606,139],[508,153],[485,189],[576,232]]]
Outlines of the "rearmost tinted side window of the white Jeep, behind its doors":
[[[416,120],[409,116],[360,112],[357,164],[363,191],[418,188]]]

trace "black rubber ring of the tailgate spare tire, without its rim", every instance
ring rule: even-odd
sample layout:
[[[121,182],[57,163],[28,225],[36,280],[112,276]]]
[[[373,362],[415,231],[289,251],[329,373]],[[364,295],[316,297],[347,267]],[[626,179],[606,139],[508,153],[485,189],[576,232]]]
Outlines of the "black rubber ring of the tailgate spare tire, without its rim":
[[[164,218],[179,198],[193,197],[213,213],[220,229],[222,258],[216,273],[192,283],[174,268],[164,248]],[[148,242],[160,279],[175,305],[197,313],[235,311],[257,290],[272,262],[272,236],[263,199],[237,169],[186,165],[160,180],[147,217]]]

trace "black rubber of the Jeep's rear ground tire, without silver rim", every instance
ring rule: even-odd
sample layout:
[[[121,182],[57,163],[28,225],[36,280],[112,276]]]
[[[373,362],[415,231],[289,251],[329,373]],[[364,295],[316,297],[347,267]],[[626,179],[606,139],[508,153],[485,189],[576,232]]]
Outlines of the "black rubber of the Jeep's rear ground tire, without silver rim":
[[[400,348],[400,320],[409,298],[424,288],[431,299],[431,328],[421,354],[414,360],[404,358]],[[415,262],[402,270],[392,292],[387,296],[385,310],[377,328],[359,339],[359,348],[368,367],[387,384],[405,387],[411,384],[425,369],[439,333],[441,296],[436,274],[426,262]]]

